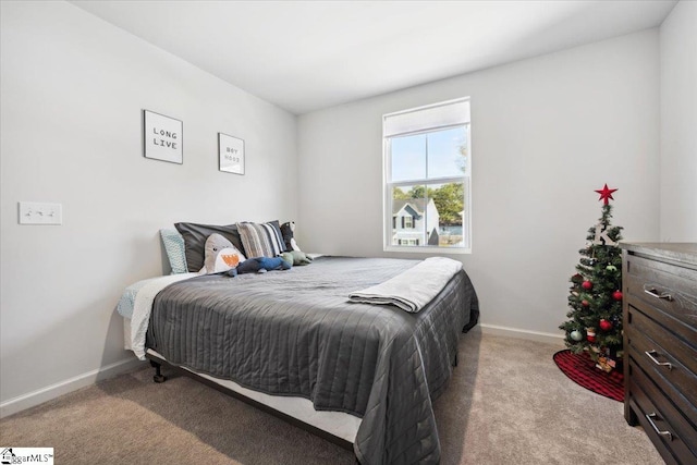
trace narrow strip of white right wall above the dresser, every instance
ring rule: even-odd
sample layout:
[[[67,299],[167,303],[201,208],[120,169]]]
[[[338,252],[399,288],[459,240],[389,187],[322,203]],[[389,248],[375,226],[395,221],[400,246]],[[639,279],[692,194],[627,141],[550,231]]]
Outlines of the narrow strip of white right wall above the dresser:
[[[697,242],[697,2],[661,25],[661,240]]]

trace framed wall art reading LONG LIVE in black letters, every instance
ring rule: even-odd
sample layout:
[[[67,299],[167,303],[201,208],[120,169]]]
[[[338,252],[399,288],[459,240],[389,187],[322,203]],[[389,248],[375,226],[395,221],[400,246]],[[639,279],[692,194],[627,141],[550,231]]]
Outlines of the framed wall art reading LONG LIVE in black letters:
[[[143,110],[143,155],[145,158],[182,164],[184,123],[174,118]]]

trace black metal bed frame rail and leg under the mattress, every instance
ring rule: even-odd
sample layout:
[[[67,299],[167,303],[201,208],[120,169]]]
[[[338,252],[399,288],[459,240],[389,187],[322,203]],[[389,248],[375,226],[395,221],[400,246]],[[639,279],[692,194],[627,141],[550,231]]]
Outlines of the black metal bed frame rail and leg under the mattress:
[[[273,415],[274,417],[281,418],[282,420],[297,427],[301,428],[311,435],[315,435],[319,438],[322,438],[329,442],[332,442],[347,451],[353,452],[353,442],[348,442],[343,438],[340,438],[338,436],[334,436],[330,432],[327,432],[322,429],[317,428],[316,426],[313,426],[308,423],[302,421],[295,417],[292,417],[290,415],[284,414],[283,412],[279,412],[276,408],[269,407],[268,405],[265,405],[260,402],[255,401],[254,399],[249,399],[246,397],[242,394],[240,394],[239,392],[232,391],[223,386],[218,384],[217,382],[213,382],[211,380],[209,380],[208,378],[204,378],[201,376],[196,375],[193,371],[189,371],[187,369],[178,367],[176,365],[172,365],[169,362],[167,362],[164,358],[158,357],[157,355],[154,355],[151,353],[146,353],[145,354],[146,358],[148,358],[150,360],[150,365],[155,368],[155,376],[152,377],[152,380],[155,382],[164,382],[167,381],[167,377],[164,377],[162,375],[162,367],[167,367],[167,369],[171,369],[180,375],[184,375],[187,376],[200,383],[204,383],[206,386],[208,386],[209,388],[212,388],[217,391],[222,392],[223,394],[230,395],[231,397],[237,399],[246,404],[252,405],[253,407],[256,407],[262,412],[266,412],[268,414]],[[356,463],[358,463],[356,461]]]

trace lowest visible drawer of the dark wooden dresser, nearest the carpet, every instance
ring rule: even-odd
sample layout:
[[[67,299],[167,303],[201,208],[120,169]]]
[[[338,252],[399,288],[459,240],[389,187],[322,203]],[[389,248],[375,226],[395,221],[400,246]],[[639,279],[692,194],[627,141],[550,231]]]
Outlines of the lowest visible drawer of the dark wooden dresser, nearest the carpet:
[[[629,402],[634,404],[639,424],[657,445],[663,460],[677,464],[697,463],[697,451],[689,445],[697,444],[695,428],[632,358],[629,372]]]

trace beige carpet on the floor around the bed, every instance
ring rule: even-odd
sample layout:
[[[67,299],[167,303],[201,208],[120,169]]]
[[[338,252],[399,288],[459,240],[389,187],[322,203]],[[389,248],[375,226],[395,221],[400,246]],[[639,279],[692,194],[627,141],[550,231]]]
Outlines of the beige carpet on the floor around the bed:
[[[662,464],[622,404],[568,380],[561,346],[463,335],[436,402],[443,465]],[[353,454],[186,377],[152,369],[0,420],[1,446],[52,446],[57,464],[353,464]]]

